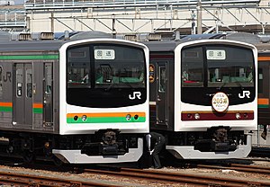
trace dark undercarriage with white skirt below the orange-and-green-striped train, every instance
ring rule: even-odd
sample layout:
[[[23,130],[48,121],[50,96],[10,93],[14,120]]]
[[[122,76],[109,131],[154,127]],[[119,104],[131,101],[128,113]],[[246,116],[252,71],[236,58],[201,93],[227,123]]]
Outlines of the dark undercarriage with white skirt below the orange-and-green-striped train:
[[[22,157],[25,163],[34,160],[62,163],[87,164],[91,157],[118,157],[128,155],[130,150],[141,147],[138,135],[121,134],[119,130],[97,131],[94,135],[52,135],[44,133],[2,131],[0,134],[0,155]],[[142,142],[141,142],[142,144]],[[84,156],[85,160],[68,160],[68,156]],[[75,156],[76,154],[76,156]],[[122,161],[122,160],[121,160]],[[96,161],[98,162],[98,161]],[[90,164],[90,162],[89,162]]]

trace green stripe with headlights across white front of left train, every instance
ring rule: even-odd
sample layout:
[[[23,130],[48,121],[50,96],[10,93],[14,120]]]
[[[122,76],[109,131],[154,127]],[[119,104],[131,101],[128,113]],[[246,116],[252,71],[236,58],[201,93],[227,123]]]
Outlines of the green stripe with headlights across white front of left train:
[[[83,121],[81,118],[74,120],[73,118],[67,118],[67,123],[112,123],[112,122],[145,122],[145,117],[139,117],[138,120],[131,118],[130,120],[126,120],[124,117],[108,117],[108,118],[87,118]]]

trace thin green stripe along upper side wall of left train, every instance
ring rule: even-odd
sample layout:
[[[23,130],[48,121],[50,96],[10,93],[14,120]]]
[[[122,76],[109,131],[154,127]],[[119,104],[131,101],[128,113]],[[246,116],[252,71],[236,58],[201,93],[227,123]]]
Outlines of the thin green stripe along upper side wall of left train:
[[[3,55],[0,56],[0,59],[4,59],[4,60],[23,60],[23,59],[58,59],[59,56],[58,55],[16,55],[16,56],[12,56],[12,55]]]

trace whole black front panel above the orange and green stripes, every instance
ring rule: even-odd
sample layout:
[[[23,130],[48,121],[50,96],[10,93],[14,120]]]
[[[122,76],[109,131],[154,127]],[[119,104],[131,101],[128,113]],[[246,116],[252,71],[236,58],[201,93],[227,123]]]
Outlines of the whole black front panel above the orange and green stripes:
[[[67,103],[88,107],[120,107],[146,94],[146,59],[140,48],[91,44],[67,49]],[[75,99],[76,98],[76,99]]]

